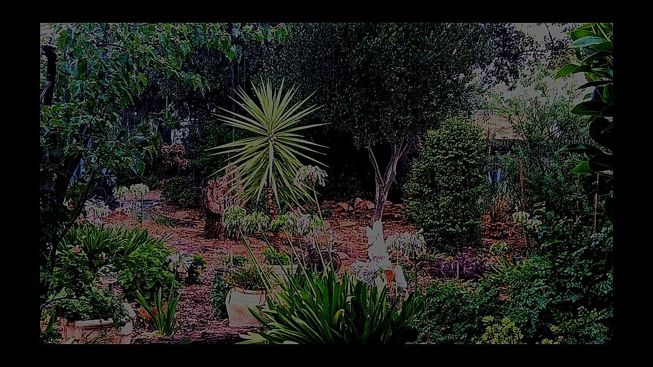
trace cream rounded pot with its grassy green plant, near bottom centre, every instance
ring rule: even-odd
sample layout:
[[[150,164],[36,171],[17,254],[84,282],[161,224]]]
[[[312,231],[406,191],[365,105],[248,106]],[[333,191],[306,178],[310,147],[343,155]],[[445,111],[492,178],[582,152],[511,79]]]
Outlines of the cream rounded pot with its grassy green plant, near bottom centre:
[[[225,299],[229,326],[260,325],[249,311],[259,311],[259,306],[267,302],[265,283],[257,268],[251,264],[240,266],[227,274],[225,283],[231,287]]]

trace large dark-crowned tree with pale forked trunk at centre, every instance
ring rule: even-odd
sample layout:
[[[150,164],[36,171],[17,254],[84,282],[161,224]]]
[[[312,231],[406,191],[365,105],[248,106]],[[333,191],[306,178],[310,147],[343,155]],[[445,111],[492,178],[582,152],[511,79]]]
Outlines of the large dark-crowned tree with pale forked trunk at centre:
[[[375,221],[415,138],[468,110],[484,86],[511,80],[523,41],[509,24],[295,24],[266,72],[317,90],[325,107],[313,118],[368,152]],[[381,149],[390,151],[385,170]]]

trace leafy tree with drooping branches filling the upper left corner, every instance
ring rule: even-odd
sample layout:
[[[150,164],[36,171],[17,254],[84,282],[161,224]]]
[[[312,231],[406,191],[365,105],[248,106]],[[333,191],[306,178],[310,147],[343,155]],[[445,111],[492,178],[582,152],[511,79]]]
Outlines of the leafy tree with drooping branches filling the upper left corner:
[[[40,118],[40,250],[42,293],[57,244],[93,188],[116,174],[144,172],[170,105],[148,103],[172,80],[200,93],[206,77],[184,67],[198,48],[240,59],[233,40],[283,39],[285,27],[242,24],[57,24],[42,36]],[[263,37],[263,38],[262,38]],[[140,107],[140,108],[139,108]]]

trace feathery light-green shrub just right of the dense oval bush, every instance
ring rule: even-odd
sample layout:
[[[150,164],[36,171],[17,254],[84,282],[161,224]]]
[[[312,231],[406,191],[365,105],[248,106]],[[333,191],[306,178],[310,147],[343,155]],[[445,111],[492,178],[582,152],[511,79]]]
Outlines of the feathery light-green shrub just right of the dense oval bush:
[[[520,84],[535,93],[528,91],[517,97],[492,93],[483,106],[507,121],[518,138],[509,152],[498,154],[494,161],[505,173],[502,183],[509,194],[507,210],[512,212],[522,203],[527,208],[544,203],[560,215],[588,214],[593,200],[583,197],[583,183],[571,174],[579,157],[556,153],[565,144],[588,142],[585,122],[569,112],[579,97],[578,91],[573,84],[557,87],[547,70],[535,72]]]

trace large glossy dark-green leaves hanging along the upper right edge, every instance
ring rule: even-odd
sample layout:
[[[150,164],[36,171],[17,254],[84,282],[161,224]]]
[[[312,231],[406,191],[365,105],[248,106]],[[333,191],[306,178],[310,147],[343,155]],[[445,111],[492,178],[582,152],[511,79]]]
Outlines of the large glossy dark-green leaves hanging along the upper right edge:
[[[588,116],[588,131],[596,145],[570,144],[563,152],[580,152],[587,157],[574,168],[573,172],[582,174],[596,172],[597,187],[605,187],[601,194],[606,195],[606,212],[612,217],[613,176],[613,25],[611,23],[590,23],[569,32],[573,52],[578,63],[565,65],[556,78],[584,72],[587,80],[579,89],[594,88],[585,95],[586,101],[577,104],[571,113]],[[597,193],[598,195],[599,193]]]

